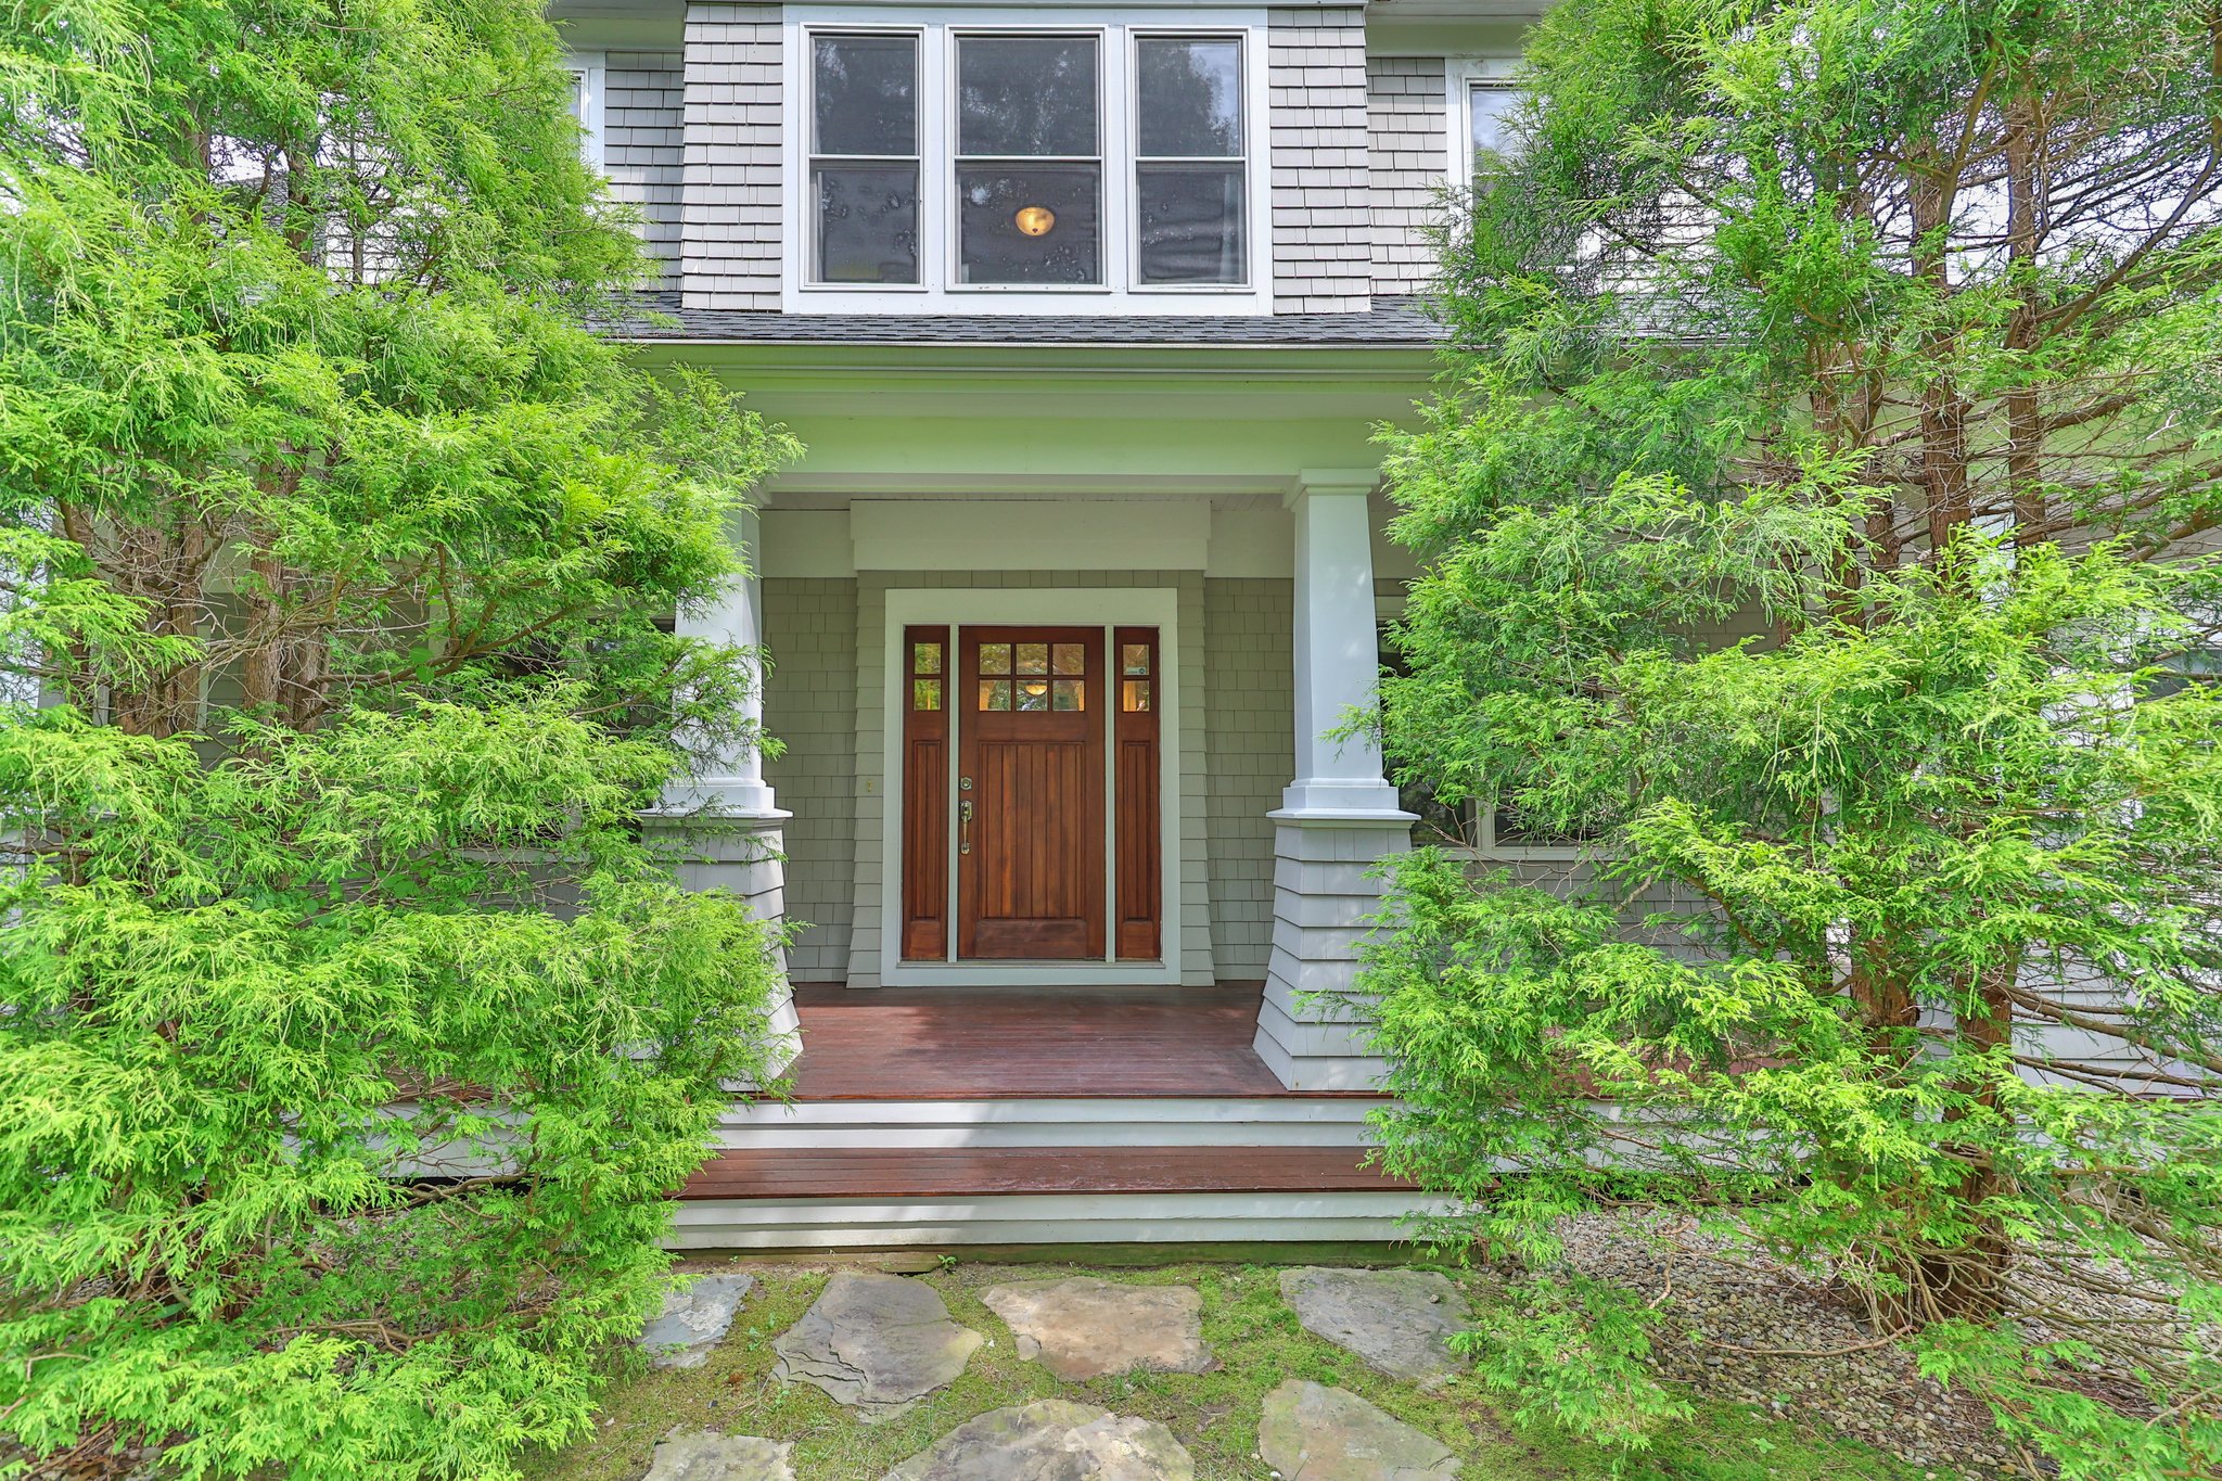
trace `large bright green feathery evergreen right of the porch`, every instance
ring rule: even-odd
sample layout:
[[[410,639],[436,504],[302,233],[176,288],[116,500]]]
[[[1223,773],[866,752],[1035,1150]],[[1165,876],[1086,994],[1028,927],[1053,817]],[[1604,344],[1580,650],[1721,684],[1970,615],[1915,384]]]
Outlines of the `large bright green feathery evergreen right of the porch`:
[[[2222,1465],[2222,84],[2173,4],[1575,0],[1389,435],[1384,1157],[1551,1275],[1693,1212],[2066,1477]],[[1600,1106],[1611,1106],[1602,1115]],[[1624,1308],[1482,1350],[1615,1406]],[[1589,1343],[1575,1328],[1595,1328]],[[1600,1397],[1602,1394],[1602,1397]]]

